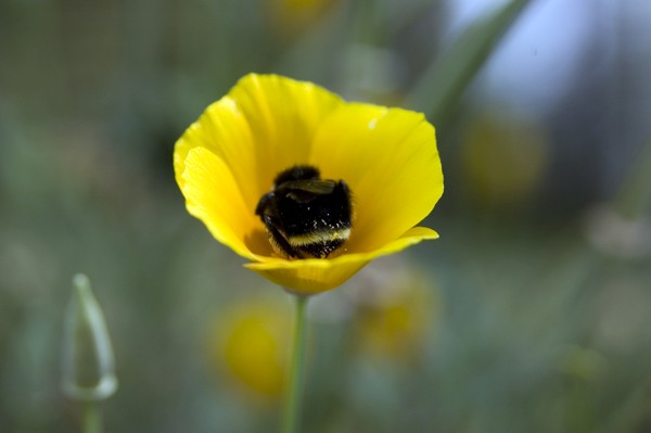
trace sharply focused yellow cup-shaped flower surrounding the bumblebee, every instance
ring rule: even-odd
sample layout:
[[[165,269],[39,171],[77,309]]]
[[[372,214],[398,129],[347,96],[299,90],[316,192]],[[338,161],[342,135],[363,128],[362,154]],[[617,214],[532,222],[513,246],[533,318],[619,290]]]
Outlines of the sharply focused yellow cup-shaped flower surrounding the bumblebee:
[[[352,192],[340,255],[281,257],[256,215],[278,174],[297,165],[344,180]],[[252,260],[247,268],[296,293],[334,289],[373,258],[438,237],[414,227],[443,193],[432,125],[422,114],[345,102],[310,82],[243,77],[178,140],[174,166],[188,212]]]

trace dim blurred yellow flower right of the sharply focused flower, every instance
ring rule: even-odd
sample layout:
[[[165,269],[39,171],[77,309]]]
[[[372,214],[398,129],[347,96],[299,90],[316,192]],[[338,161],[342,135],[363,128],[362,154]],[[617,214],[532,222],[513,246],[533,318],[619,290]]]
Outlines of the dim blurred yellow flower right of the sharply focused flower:
[[[548,167],[545,131],[522,117],[480,115],[468,125],[463,144],[465,184],[483,205],[518,204]]]

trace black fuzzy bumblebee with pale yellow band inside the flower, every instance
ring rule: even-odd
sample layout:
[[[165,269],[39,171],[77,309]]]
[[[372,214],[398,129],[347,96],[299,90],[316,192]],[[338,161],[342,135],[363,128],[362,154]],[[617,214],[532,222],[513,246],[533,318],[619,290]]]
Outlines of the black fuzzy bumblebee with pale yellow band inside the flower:
[[[288,258],[326,258],[350,237],[348,186],[321,179],[319,170],[308,165],[281,171],[255,214],[267,227],[273,250]]]

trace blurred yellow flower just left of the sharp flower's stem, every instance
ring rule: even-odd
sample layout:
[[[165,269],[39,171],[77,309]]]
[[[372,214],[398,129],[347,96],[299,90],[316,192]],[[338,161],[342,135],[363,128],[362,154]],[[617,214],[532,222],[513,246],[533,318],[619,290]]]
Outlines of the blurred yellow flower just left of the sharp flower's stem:
[[[233,305],[210,333],[210,358],[248,390],[280,396],[291,335],[286,305],[257,301]]]

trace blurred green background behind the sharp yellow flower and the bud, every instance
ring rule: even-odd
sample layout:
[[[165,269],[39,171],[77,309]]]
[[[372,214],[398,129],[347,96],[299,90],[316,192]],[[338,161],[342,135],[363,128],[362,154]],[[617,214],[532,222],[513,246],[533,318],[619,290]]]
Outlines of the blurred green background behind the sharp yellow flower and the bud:
[[[115,349],[106,431],[276,431],[288,296],[171,168],[248,72],[425,112],[446,175],[441,240],[310,305],[306,432],[651,431],[651,5],[534,1],[433,106],[502,3],[0,0],[0,431],[79,429],[78,271]]]

